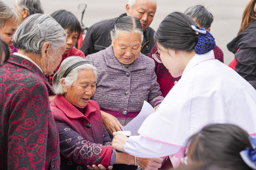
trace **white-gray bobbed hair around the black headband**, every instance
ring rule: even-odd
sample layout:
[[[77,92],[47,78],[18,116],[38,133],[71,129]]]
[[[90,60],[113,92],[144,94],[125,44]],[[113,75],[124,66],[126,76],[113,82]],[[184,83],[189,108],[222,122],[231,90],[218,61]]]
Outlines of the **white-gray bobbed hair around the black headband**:
[[[68,75],[64,78],[65,83],[64,85],[61,85],[61,80],[63,79],[63,76],[66,72],[66,70],[72,66],[74,63],[77,63],[79,61],[87,61],[86,59],[79,57],[79,56],[71,56],[66,58],[62,61],[60,64],[60,68],[58,71],[54,74],[52,78],[52,86],[54,88],[55,94],[62,94],[64,95],[64,91],[62,86],[65,88],[70,88],[74,83],[77,82],[77,78],[79,75],[79,72],[82,70],[93,70],[96,80],[98,80],[97,75],[97,69],[91,64],[82,64],[80,66],[75,67],[73,70],[71,70]]]

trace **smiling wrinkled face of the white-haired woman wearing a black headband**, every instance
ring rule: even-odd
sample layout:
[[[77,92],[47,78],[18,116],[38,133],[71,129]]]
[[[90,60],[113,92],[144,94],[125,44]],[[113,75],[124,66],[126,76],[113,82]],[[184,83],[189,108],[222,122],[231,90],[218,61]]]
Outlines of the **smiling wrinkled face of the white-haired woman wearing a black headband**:
[[[93,70],[78,72],[77,82],[71,88],[65,89],[65,98],[74,106],[84,108],[96,91],[96,78]]]

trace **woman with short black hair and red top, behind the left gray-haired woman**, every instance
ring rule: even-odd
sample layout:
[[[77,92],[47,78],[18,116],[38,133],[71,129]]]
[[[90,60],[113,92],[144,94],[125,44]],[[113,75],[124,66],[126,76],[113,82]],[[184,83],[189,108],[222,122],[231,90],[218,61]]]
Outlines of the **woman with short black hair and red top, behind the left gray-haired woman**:
[[[68,34],[68,37],[66,39],[66,48],[64,51],[64,55],[62,56],[62,59],[60,61],[60,64],[65,58],[68,58],[70,56],[85,57],[85,54],[81,50],[78,50],[74,47],[77,43],[77,40],[79,39],[80,33],[82,32],[82,28],[77,17],[72,12],[69,12],[65,9],[53,12],[51,14],[51,17],[54,18]],[[53,74],[46,75],[46,78],[51,85],[52,77],[55,74],[55,72],[58,71],[59,68],[60,65],[57,66]],[[50,103],[53,101],[54,96],[54,94],[49,94]]]

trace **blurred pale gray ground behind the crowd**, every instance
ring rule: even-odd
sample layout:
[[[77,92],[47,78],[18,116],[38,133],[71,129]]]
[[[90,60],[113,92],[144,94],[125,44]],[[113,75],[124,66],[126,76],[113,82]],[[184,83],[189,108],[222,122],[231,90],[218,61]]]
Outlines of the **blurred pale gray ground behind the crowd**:
[[[3,0],[14,6],[15,0]],[[214,21],[211,26],[211,34],[224,52],[224,63],[229,64],[234,54],[227,50],[227,44],[235,38],[242,22],[242,15],[250,0],[156,0],[157,12],[151,23],[155,31],[161,21],[171,12],[184,12],[188,7],[196,4],[204,4],[212,12]],[[80,3],[87,4],[83,18],[85,26],[90,27],[93,23],[104,19],[115,18],[125,13],[128,0],[41,0],[45,14],[50,15],[58,9],[67,9],[73,12],[78,19],[81,13],[78,10]]]

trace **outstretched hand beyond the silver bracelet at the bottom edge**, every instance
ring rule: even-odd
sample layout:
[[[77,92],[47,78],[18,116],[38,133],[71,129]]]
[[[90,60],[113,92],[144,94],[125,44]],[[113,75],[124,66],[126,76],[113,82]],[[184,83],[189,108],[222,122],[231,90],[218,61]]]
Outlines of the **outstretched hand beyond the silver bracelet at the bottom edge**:
[[[157,170],[161,167],[163,158],[136,158],[136,163],[144,170]]]

